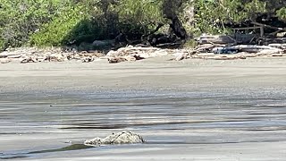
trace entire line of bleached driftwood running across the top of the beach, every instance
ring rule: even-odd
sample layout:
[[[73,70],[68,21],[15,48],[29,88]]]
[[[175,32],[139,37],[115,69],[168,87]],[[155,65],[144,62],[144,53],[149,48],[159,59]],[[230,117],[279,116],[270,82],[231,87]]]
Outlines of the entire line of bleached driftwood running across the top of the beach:
[[[202,36],[198,38],[198,46],[193,49],[163,49],[158,47],[122,47],[111,50],[104,55],[97,51],[77,52],[60,48],[39,49],[35,47],[22,47],[8,49],[0,53],[0,63],[10,62],[39,63],[63,62],[76,60],[89,63],[95,60],[107,60],[110,64],[133,62],[150,57],[173,55],[172,60],[183,59],[214,59],[233,60],[246,59],[257,56],[286,56],[286,43],[272,43],[267,46],[236,45],[236,39],[229,36]]]

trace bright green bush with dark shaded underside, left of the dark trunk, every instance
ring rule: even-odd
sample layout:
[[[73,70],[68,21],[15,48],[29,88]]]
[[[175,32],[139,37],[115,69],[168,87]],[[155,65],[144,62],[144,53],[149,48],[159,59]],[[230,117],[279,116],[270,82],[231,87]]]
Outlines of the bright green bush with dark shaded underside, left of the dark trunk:
[[[65,8],[32,34],[32,46],[80,46],[96,39],[115,38],[120,32],[138,39],[162,20],[160,5],[149,0],[123,0],[119,4],[88,1]],[[90,4],[93,2],[93,4]],[[160,2],[160,1],[158,1]],[[91,6],[91,7],[90,7]]]

